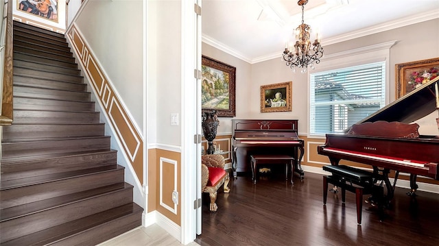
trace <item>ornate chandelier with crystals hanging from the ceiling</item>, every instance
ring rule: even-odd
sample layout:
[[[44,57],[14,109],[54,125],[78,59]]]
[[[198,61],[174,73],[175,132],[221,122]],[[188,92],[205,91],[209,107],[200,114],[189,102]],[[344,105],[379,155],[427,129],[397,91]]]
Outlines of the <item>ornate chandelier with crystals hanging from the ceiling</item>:
[[[302,6],[302,25],[296,28],[296,43],[294,46],[288,47],[288,44],[286,44],[285,51],[282,53],[282,60],[294,73],[296,67],[300,68],[302,73],[307,72],[308,66],[314,69],[314,63],[320,63],[320,58],[323,56],[323,48],[318,40],[318,34],[316,40],[312,43],[311,49],[311,41],[309,41],[311,27],[303,21],[303,9],[307,3],[308,0],[299,0],[297,2],[298,5]]]

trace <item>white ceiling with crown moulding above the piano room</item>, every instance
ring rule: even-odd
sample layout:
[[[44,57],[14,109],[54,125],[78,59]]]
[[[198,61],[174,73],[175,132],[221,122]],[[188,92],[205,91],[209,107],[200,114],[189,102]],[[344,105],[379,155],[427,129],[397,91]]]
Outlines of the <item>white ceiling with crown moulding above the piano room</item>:
[[[304,19],[324,48],[437,18],[439,0],[309,0]],[[301,22],[297,0],[202,1],[202,41],[250,63],[279,58]]]

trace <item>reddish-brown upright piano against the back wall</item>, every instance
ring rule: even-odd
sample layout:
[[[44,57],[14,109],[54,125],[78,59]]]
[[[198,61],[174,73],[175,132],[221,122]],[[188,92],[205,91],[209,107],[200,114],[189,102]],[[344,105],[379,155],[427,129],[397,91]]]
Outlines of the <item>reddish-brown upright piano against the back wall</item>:
[[[303,178],[300,160],[304,154],[303,140],[298,138],[297,120],[233,119],[233,176],[249,171],[252,154],[294,156],[294,171]],[[300,154],[298,153],[300,151]]]

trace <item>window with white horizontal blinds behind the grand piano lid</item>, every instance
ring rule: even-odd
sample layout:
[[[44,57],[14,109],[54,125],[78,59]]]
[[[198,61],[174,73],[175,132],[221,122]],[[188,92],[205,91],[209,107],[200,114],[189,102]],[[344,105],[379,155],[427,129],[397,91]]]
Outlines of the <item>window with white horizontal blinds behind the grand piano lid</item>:
[[[310,81],[310,134],[342,133],[385,104],[385,62],[312,73]]]

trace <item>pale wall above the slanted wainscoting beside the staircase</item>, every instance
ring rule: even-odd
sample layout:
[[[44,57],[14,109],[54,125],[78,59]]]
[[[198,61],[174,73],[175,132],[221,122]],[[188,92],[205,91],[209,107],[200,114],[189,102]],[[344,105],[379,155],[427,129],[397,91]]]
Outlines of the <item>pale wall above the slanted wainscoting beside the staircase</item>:
[[[75,23],[142,132],[143,1],[86,4]]]

